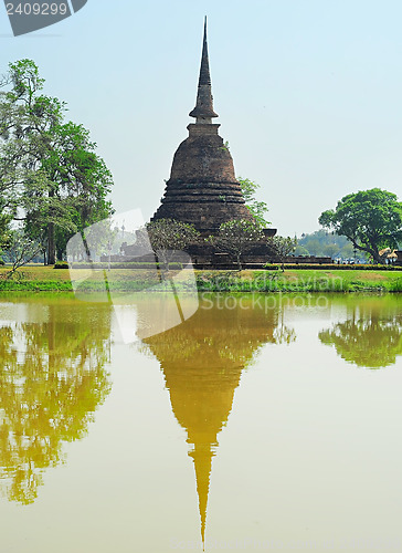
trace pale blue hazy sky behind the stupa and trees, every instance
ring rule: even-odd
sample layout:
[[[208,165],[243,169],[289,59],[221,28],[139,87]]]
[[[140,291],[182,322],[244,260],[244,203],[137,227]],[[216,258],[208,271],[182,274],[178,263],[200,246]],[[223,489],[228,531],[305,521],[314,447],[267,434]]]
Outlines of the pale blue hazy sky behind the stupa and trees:
[[[1,2],[0,69],[38,63],[113,171],[116,209],[147,219],[192,122],[204,14],[220,134],[279,234],[359,189],[402,199],[400,0],[88,0],[20,38]]]

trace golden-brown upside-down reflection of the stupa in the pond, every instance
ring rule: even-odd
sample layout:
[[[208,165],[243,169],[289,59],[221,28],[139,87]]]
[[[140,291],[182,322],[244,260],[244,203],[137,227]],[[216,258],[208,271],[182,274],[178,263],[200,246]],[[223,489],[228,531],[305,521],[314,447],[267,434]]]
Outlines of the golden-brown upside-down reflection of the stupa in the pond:
[[[231,307],[220,305],[216,295],[204,299],[198,312],[181,325],[142,340],[145,351],[160,363],[172,411],[187,431],[203,544],[212,458],[242,372],[264,344],[296,340],[294,331],[281,322],[278,307],[265,310],[244,296],[241,303],[233,298]],[[137,309],[141,313],[139,304]],[[148,302],[142,309],[151,311],[152,304]]]

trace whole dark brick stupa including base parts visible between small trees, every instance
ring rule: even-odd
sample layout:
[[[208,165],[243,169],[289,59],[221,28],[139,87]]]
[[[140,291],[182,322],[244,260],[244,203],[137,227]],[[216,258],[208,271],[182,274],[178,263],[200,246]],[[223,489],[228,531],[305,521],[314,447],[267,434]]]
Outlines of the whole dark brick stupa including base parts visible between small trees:
[[[210,62],[207,42],[207,18],[201,55],[195,107],[190,112],[195,123],[188,125],[189,136],[178,147],[166,182],[161,205],[151,221],[173,219],[190,223],[201,238],[216,234],[222,223],[235,219],[254,221],[254,216],[245,205],[243,192],[234,175],[233,159],[228,145],[218,134],[218,117],[213,108]],[[267,241],[276,229],[262,229],[263,236],[250,242],[248,251],[242,255],[250,268],[260,268],[275,261],[275,252]],[[205,241],[184,248],[194,267],[199,269],[231,269],[237,267],[229,253],[222,253]],[[114,255],[113,261],[154,261],[154,253],[144,253],[137,243],[121,247],[124,255]],[[105,258],[104,261],[107,261]],[[180,259],[178,259],[180,261]]]

